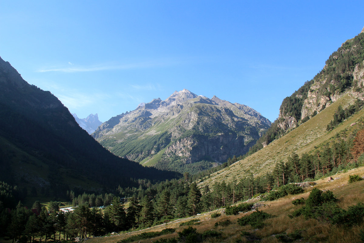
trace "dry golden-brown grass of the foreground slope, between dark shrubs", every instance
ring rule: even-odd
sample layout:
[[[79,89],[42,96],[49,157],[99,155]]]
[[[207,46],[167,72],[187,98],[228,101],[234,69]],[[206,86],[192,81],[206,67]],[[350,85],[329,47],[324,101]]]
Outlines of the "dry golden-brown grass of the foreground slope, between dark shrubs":
[[[329,189],[333,192],[335,197],[339,199],[338,205],[340,208],[348,209],[349,206],[355,205],[359,202],[364,201],[364,180],[357,181],[355,183],[348,184],[349,175],[360,175],[364,176],[364,167],[352,169],[348,172],[338,173],[333,177],[337,177],[337,180],[328,182],[327,178],[315,181],[317,184],[314,187],[318,189]],[[172,222],[162,224],[159,226],[151,227],[145,230],[139,230],[134,232],[128,232],[125,234],[116,234],[109,237],[95,237],[87,240],[88,243],[116,243],[122,239],[126,239],[132,235],[140,234],[142,232],[150,231],[161,231],[165,228],[174,228],[175,233],[169,235],[158,236],[152,239],[137,240],[135,242],[147,243],[154,242],[161,238],[178,238],[178,233],[181,232],[187,226],[179,226],[182,222],[189,221],[191,219],[200,220],[199,225],[193,227],[197,229],[197,232],[202,233],[204,231],[215,230],[222,233],[221,238],[218,239],[207,239],[203,242],[249,242],[244,236],[240,234],[242,232],[249,232],[254,234],[258,238],[261,238],[259,242],[280,242],[275,237],[277,234],[287,233],[290,234],[294,231],[300,231],[303,239],[299,239],[293,242],[360,242],[359,232],[364,225],[353,226],[346,228],[343,226],[332,225],[325,222],[319,222],[316,219],[305,219],[303,216],[293,217],[292,219],[288,216],[292,214],[294,210],[300,206],[295,206],[291,203],[295,198],[304,197],[305,199],[309,196],[310,191],[314,187],[304,188],[304,193],[300,195],[288,195],[281,199],[274,201],[260,201],[262,204],[259,210],[276,215],[272,219],[265,220],[266,226],[261,229],[255,229],[249,226],[239,226],[237,219],[242,216],[249,215],[251,212],[240,213],[239,215],[225,215],[224,209],[217,209],[212,212],[201,213],[194,217],[174,220]],[[249,202],[258,202],[260,199],[252,199]],[[221,216],[216,219],[211,219],[211,214],[219,212]],[[221,222],[229,219],[232,224],[229,226],[218,226],[215,227],[216,222]]]

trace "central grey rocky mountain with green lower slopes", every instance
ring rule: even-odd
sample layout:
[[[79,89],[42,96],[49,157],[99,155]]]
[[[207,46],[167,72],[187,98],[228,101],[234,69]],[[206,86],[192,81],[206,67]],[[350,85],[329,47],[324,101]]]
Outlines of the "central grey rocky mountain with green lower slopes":
[[[196,172],[245,154],[270,125],[246,105],[184,89],[112,117],[92,136],[117,156]]]

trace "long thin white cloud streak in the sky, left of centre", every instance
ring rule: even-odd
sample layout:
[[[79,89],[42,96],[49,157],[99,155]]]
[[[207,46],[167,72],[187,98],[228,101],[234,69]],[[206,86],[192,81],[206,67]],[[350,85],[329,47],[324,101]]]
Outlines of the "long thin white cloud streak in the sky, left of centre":
[[[169,66],[174,63],[175,62],[173,61],[151,61],[151,62],[120,64],[120,65],[76,67],[74,66],[73,63],[68,62],[68,64],[71,64],[72,67],[41,68],[37,71],[38,72],[93,72],[93,71],[105,71],[105,70],[127,70],[127,69],[137,69],[137,68],[161,67],[161,66]]]

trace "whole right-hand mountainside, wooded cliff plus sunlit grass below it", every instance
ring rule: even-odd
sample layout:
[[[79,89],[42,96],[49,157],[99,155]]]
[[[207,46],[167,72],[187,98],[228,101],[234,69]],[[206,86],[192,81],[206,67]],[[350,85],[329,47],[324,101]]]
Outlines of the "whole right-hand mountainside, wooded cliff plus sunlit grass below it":
[[[277,162],[286,162],[292,153],[320,154],[324,145],[340,133],[356,129],[364,111],[364,32],[347,40],[329,57],[326,65],[311,81],[285,98],[279,117],[249,151],[250,156],[211,175],[212,181],[234,181],[250,173],[272,171]],[[349,112],[348,109],[351,111]],[[339,114],[339,110],[343,114]],[[360,110],[350,117],[355,110]],[[345,114],[346,114],[345,113]],[[340,121],[337,121],[337,120]],[[336,122],[334,122],[336,120]],[[344,120],[344,121],[343,121]],[[343,121],[342,123],[340,123]],[[339,124],[329,126],[329,124]],[[330,140],[331,139],[331,140]],[[267,146],[268,145],[268,146]],[[255,153],[254,153],[255,152]]]

